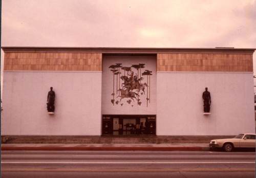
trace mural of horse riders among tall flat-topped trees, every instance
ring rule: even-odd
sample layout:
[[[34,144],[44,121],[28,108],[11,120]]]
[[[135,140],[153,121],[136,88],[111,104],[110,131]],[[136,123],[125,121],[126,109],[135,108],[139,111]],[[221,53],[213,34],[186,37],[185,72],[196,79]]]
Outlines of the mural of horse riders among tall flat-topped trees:
[[[122,63],[116,63],[115,65],[110,65],[109,68],[113,73],[113,99],[111,102],[113,105],[120,104],[121,106],[125,104],[141,105],[142,96],[146,96],[146,106],[150,103],[150,76],[152,71],[141,70],[145,68],[145,64],[139,63],[132,66],[122,66]],[[123,74],[123,75],[122,75]],[[143,77],[142,77],[143,76]],[[144,80],[146,76],[146,82]],[[121,84],[120,84],[121,83]],[[122,100],[122,99],[126,99]]]

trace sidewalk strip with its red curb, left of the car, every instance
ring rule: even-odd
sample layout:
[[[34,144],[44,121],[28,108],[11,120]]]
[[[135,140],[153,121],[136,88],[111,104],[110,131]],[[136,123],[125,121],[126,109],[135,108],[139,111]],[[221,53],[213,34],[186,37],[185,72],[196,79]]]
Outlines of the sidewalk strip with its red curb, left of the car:
[[[208,143],[162,143],[162,144],[1,144],[1,150],[210,150]]]

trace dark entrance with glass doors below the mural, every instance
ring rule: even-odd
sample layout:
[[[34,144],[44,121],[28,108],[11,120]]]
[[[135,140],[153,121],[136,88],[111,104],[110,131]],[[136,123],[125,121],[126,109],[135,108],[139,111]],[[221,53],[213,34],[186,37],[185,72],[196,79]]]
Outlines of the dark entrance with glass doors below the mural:
[[[156,115],[102,115],[102,135],[156,135]]]

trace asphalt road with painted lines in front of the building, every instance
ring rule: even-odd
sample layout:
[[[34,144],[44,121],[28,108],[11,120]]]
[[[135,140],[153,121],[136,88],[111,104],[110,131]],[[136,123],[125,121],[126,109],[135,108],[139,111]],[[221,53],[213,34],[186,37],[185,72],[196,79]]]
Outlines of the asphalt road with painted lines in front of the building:
[[[255,152],[2,151],[1,177],[255,177]]]

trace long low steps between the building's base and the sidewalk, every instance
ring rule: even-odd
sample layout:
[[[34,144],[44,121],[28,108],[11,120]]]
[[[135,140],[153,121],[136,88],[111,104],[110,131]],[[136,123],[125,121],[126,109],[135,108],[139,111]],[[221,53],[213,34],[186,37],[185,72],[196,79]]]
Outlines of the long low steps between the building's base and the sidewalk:
[[[111,143],[209,143],[234,136],[2,136],[2,143],[13,144],[111,144]]]

